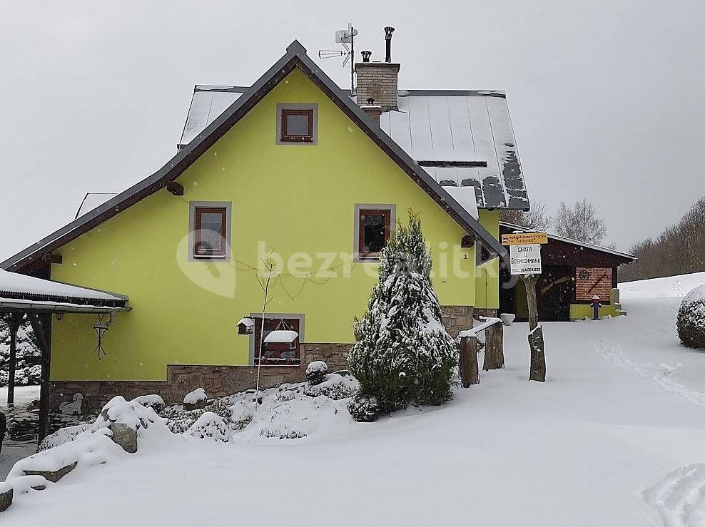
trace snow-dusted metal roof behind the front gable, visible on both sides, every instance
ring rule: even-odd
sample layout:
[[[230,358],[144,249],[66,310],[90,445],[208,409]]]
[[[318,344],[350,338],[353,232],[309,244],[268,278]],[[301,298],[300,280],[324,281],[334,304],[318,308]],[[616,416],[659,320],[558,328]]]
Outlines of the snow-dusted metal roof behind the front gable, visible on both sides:
[[[193,140],[246,89],[197,85],[179,145]],[[382,113],[380,127],[412,159],[450,165],[424,170],[446,190],[455,187],[449,193],[461,204],[529,208],[504,92],[400,90],[397,107]],[[468,161],[486,166],[452,166]],[[465,208],[477,218],[475,207]]]

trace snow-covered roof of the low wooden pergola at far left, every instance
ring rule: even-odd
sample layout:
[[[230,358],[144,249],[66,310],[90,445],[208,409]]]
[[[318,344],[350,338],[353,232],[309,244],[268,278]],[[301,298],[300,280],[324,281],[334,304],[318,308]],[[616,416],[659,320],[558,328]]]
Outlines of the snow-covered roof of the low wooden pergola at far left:
[[[26,297],[28,300],[32,300],[31,297],[46,297],[54,300],[110,300],[121,303],[128,300],[128,297],[123,295],[4,270],[0,270],[0,297],[10,297],[14,300],[21,300],[18,297]]]

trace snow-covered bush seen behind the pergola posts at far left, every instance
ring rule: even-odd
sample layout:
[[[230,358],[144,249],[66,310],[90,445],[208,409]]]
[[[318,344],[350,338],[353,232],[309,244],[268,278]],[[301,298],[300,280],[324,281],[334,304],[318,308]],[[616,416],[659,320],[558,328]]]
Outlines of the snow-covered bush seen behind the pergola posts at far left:
[[[7,386],[10,358],[10,328],[0,314],[0,387]],[[27,386],[41,382],[41,352],[34,339],[34,332],[28,321],[22,322],[17,330],[15,385]]]

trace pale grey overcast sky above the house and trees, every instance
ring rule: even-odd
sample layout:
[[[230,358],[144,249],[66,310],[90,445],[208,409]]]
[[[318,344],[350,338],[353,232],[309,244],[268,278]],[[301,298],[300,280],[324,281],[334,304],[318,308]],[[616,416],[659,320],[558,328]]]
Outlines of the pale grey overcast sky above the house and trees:
[[[701,1],[243,4],[0,0],[0,260],[168,160],[196,83],[250,84],[299,39],[348,88],[317,55],[348,21],[373,58],[395,26],[400,87],[505,90],[529,198],[587,197],[608,243],[705,195]]]

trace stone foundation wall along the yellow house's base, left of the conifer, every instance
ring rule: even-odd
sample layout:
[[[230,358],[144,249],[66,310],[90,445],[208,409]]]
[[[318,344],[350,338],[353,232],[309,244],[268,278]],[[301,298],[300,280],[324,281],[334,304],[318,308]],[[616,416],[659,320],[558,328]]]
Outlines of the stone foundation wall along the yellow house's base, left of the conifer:
[[[303,364],[300,366],[260,367],[260,386],[272,388],[285,382],[303,382],[306,364],[323,360],[328,371],[348,369],[348,352],[352,344],[301,345]],[[97,414],[116,395],[125,399],[146,394],[161,395],[167,404],[181,403],[183,397],[196,388],[203,388],[209,397],[223,397],[255,388],[256,366],[199,366],[168,364],[166,381],[54,381],[49,387],[49,408],[59,409],[59,404],[83,395],[81,412]]]

